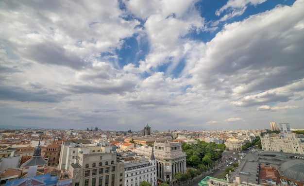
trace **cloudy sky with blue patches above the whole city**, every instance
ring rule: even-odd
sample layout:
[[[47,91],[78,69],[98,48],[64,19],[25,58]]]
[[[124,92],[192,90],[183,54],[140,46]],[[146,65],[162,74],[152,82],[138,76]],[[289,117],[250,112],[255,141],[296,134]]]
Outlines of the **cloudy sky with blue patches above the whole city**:
[[[1,0],[0,125],[304,128],[304,0]]]

